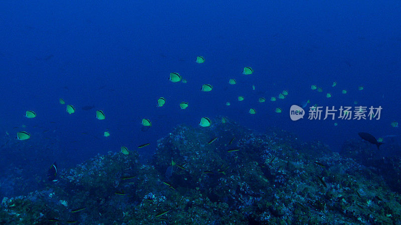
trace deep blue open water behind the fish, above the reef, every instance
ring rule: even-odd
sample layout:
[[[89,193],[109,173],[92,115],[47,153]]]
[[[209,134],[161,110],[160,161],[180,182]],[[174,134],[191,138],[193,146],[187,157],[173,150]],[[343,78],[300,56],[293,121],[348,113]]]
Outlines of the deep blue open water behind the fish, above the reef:
[[[390,126],[401,111],[399,21],[399,1],[2,1],[0,133],[13,147],[1,149],[0,172],[16,166],[46,174],[54,161],[69,168],[150,142],[138,149],[144,162],[157,139],[178,124],[198,126],[204,116],[227,116],[260,132],[276,126],[333,151],[360,131],[399,135]],[[205,63],[195,63],[198,55]],[[245,66],[254,73],[242,74]],[[188,82],[168,81],[170,72]],[[200,91],[205,83],[211,92]],[[285,99],[269,100],[282,90]],[[163,107],[156,107],[159,97]],[[76,112],[68,114],[59,98]],[[307,99],[383,109],[379,120],[292,121],[290,106]],[[82,109],[88,105],[95,107]],[[96,119],[98,109],[105,120]],[[37,117],[24,117],[26,110]],[[146,132],[142,118],[152,122]],[[32,137],[18,141],[17,131]]]

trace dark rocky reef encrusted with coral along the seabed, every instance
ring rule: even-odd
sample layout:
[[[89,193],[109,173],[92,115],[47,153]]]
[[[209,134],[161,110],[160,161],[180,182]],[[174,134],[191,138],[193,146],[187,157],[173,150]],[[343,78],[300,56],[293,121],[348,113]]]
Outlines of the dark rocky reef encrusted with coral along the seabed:
[[[146,164],[134,150],[110,151],[61,170],[42,190],[4,197],[0,223],[400,224],[401,195],[353,155],[369,146],[345,146],[340,155],[221,118],[179,125]]]

